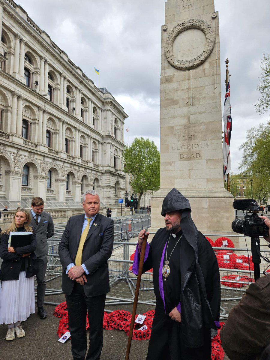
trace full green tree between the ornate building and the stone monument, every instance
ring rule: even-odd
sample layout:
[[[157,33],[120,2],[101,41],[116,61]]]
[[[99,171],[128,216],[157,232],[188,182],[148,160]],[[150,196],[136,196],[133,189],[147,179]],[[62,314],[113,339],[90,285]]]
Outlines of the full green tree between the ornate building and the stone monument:
[[[147,190],[156,191],[160,187],[160,154],[154,141],[142,137],[135,138],[130,147],[123,151],[124,171],[131,174],[130,185],[141,196]]]

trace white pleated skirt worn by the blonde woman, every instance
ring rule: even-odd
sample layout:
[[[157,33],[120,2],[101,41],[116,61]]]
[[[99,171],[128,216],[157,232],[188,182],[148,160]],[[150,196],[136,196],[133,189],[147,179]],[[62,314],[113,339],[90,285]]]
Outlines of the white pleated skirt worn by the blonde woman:
[[[0,324],[13,324],[25,321],[35,313],[34,277],[25,277],[21,271],[18,280],[1,282]]]

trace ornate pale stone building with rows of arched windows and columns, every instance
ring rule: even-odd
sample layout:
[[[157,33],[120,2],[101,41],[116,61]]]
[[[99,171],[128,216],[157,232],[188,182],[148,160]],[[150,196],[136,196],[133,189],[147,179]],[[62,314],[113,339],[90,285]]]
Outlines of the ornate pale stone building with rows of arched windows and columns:
[[[0,0],[0,30],[0,199],[63,207],[95,189],[114,206],[125,193],[123,107],[12,0]]]

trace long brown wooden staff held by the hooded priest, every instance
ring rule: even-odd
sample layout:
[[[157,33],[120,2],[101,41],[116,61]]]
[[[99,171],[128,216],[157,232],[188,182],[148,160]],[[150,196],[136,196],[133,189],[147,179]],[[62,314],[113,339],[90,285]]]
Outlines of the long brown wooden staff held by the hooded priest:
[[[145,247],[146,247],[147,239],[148,239],[148,235],[144,235],[143,243],[141,244],[139,270],[138,270],[138,276],[137,276],[137,283],[136,283],[136,290],[135,290],[135,296],[134,296],[134,303],[133,303],[130,330],[129,330],[129,339],[127,341],[127,351],[126,351],[125,360],[129,360],[131,340],[132,340],[132,335],[133,335],[133,327],[134,327],[134,322],[135,322],[135,315],[136,315],[136,310],[137,310],[139,291],[140,291],[140,284],[141,284],[141,274],[143,273],[143,260],[144,260],[144,254],[145,254]]]

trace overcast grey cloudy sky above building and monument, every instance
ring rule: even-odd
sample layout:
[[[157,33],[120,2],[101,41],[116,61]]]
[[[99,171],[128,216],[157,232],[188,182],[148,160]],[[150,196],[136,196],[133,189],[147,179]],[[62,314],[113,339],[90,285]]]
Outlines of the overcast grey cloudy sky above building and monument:
[[[28,16],[85,75],[106,89],[129,115],[125,143],[135,136],[154,140],[159,149],[161,26],[165,0],[17,0]],[[269,115],[254,103],[263,54],[269,54],[269,0],[215,0],[219,12],[222,112],[225,60],[231,75],[232,171],[237,172],[246,131]],[[96,75],[94,67],[99,69]],[[223,86],[224,85],[224,86]],[[222,120],[220,120],[222,121]],[[127,136],[128,135],[128,136]],[[129,138],[128,138],[129,137]]]

